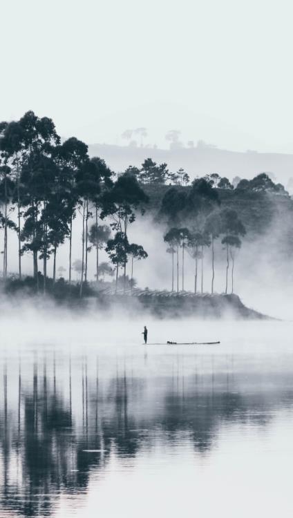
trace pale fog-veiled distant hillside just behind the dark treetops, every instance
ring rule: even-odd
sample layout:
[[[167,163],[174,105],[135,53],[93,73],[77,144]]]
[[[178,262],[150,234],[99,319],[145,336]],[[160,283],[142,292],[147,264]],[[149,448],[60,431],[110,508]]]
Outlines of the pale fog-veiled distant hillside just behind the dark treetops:
[[[170,150],[91,144],[88,150],[92,156],[104,158],[116,172],[124,171],[130,164],[140,166],[145,158],[151,157],[155,162],[167,162],[172,171],[183,167],[191,179],[205,173],[218,173],[231,180],[235,176],[253,178],[258,173],[270,172],[287,186],[288,180],[293,178],[293,155],[289,154],[237,153],[209,146]]]

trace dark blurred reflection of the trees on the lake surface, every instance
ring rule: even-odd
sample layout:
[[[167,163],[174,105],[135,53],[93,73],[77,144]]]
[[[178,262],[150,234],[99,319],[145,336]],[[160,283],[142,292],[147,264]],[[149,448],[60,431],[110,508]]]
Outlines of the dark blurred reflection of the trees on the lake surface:
[[[59,495],[86,492],[113,455],[131,461],[157,440],[208,455],[229,423],[264,428],[292,405],[290,370],[247,374],[241,358],[176,352],[160,372],[159,360],[50,350],[3,358],[1,509],[54,515]]]

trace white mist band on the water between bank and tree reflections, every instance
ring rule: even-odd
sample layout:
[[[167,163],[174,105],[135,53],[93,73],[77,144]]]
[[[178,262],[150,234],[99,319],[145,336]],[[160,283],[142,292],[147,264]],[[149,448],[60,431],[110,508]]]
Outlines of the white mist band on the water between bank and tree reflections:
[[[18,300],[2,301],[0,305],[2,356],[17,356],[21,349],[30,352],[37,346],[39,352],[46,347],[62,350],[71,347],[74,354],[86,351],[124,355],[133,347],[142,345],[143,326],[149,329],[148,343],[165,344],[167,340],[198,342],[220,340],[219,347],[200,348],[205,354],[219,354],[233,351],[238,354],[258,351],[275,354],[276,343],[281,336],[292,335],[292,322],[281,320],[243,321],[234,319],[194,320],[194,318],[165,319],[155,318],[139,308],[136,314],[129,315],[123,309],[99,314],[88,307],[87,311],[77,312],[41,298],[38,305],[34,300],[23,297]],[[82,349],[81,349],[82,345]],[[98,349],[97,349],[98,347]],[[126,347],[126,349],[125,349]],[[151,347],[151,345],[149,345]],[[184,352],[190,347],[185,347]],[[147,350],[147,349],[146,349]],[[162,348],[151,349],[152,354],[162,353]],[[177,351],[168,347],[167,351]],[[191,349],[190,349],[191,350]],[[173,354],[173,352],[171,353]]]

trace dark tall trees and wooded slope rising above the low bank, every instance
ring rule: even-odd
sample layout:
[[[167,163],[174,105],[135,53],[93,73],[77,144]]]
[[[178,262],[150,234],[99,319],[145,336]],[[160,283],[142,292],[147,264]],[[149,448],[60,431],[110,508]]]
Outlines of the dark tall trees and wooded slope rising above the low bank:
[[[186,300],[191,292],[215,294],[220,244],[220,259],[225,257],[223,294],[227,296],[234,294],[240,248],[251,236],[265,231],[276,207],[285,207],[292,215],[290,195],[266,173],[252,180],[236,177],[233,182],[218,174],[204,174],[190,182],[185,170],[169,171],[167,164],[146,158],[140,168],[129,165],[115,174],[101,157],[88,155],[84,142],[75,137],[62,142],[53,120],[32,111],[18,121],[0,123],[0,152],[3,289],[9,293],[26,289],[61,300],[97,293],[105,296],[110,289],[112,296],[134,296],[135,262],[152,257],[143,242],[130,242],[129,227],[140,215],[142,224],[147,220],[147,231],[150,218],[144,217],[149,215],[162,231],[170,294],[189,292]],[[73,260],[73,236],[80,233],[77,215],[82,220],[80,255]],[[8,265],[12,232],[18,240],[17,273]],[[59,247],[65,242],[67,265],[57,267]],[[101,262],[101,251],[108,260]],[[91,252],[95,253],[95,278],[88,275]],[[30,276],[22,268],[26,253],[32,257]],[[190,280],[187,285],[191,278],[186,271],[187,255],[193,264],[192,285]],[[204,284],[207,256],[211,270]],[[51,277],[49,261],[53,263]],[[78,280],[73,280],[73,271]]]

